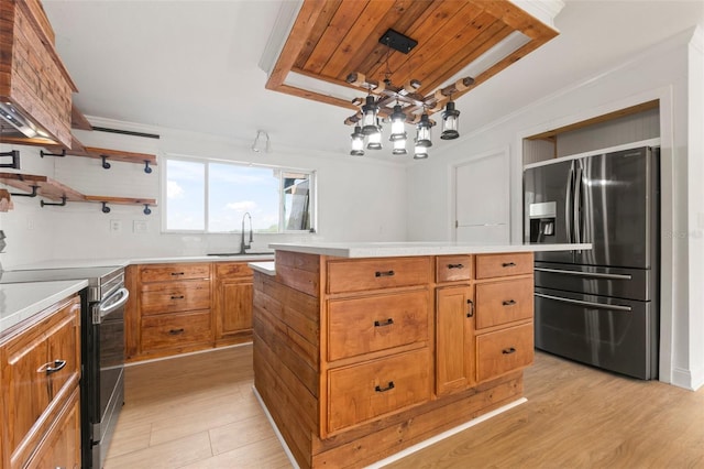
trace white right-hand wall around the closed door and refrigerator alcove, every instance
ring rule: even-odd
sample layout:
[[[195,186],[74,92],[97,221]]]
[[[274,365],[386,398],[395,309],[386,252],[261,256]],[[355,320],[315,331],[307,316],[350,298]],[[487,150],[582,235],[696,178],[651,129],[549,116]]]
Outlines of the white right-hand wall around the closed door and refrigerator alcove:
[[[693,42],[694,45],[690,45]],[[704,384],[704,162],[702,161],[701,33],[686,31],[547,96],[496,122],[465,133],[453,145],[408,168],[408,239],[451,239],[449,168],[508,145],[512,175],[512,240],[521,242],[522,139],[652,99],[660,99],[662,160],[661,381],[684,388]],[[486,184],[496,184],[487,181]],[[698,236],[696,233],[700,233]],[[690,262],[692,261],[692,262]],[[696,265],[694,265],[696,264]],[[691,286],[691,287],[690,287]],[[697,292],[695,292],[697,291]]]

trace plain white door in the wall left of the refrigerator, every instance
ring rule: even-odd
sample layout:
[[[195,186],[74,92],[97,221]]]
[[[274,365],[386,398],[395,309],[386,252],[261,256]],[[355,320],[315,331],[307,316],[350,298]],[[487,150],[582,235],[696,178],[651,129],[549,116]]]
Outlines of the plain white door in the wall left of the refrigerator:
[[[455,241],[508,244],[508,151],[454,166]]]

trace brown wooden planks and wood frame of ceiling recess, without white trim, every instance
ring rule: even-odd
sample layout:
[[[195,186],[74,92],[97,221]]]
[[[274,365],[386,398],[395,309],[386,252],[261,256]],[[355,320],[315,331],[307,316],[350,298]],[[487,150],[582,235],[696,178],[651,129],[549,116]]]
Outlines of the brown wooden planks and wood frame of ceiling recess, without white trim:
[[[418,41],[418,45],[404,54],[380,44],[388,29]],[[350,87],[346,77],[352,73],[377,81],[388,75],[396,87],[420,80],[419,92],[426,106],[432,107],[438,87],[514,31],[524,33],[528,43],[473,77],[474,85],[453,91],[453,99],[558,32],[508,0],[304,0],[266,88],[355,109],[349,98],[287,85],[286,76],[293,70]]]

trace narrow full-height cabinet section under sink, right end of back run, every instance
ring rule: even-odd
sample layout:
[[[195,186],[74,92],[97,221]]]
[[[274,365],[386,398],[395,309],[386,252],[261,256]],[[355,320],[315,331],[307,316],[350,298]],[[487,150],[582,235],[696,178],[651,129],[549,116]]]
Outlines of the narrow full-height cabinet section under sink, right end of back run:
[[[217,345],[251,340],[252,270],[246,262],[219,262],[215,271]]]

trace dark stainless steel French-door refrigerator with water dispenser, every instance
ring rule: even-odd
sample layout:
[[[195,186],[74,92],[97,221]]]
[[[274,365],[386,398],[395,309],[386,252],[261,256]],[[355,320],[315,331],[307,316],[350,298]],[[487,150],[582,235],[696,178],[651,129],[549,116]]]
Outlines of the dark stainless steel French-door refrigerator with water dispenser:
[[[525,242],[593,244],[536,253],[536,348],[658,377],[659,168],[649,146],[526,167]]]

